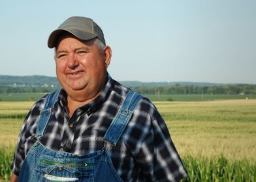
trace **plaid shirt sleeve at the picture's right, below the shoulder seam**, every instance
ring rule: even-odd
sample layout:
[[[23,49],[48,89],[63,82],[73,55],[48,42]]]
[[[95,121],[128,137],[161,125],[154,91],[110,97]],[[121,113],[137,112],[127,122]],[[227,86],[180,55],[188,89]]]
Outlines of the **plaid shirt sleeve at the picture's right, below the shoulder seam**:
[[[161,116],[152,120],[135,157],[146,181],[180,181],[187,176]]]

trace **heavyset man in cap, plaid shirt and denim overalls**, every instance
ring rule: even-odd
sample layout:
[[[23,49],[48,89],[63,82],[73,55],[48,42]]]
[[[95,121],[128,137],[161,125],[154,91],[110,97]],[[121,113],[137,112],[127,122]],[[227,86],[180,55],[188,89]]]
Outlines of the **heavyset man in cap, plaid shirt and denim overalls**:
[[[107,72],[112,51],[89,18],[50,34],[63,88],[27,114],[11,181],[179,181],[187,174],[149,99]]]

